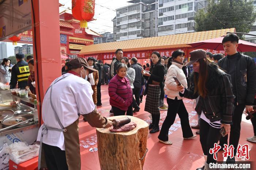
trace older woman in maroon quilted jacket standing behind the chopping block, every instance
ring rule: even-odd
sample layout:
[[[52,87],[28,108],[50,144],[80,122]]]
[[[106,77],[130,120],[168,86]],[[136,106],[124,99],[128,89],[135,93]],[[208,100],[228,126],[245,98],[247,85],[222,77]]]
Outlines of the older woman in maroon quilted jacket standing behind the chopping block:
[[[112,106],[114,116],[132,116],[132,89],[127,74],[127,65],[117,65],[117,74],[109,82],[109,103]]]

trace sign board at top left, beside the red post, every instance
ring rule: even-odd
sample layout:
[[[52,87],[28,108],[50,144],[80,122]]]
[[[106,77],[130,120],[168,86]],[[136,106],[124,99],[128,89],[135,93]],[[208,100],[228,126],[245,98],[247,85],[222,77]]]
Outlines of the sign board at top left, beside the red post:
[[[0,41],[31,29],[31,0],[5,0],[0,4]]]

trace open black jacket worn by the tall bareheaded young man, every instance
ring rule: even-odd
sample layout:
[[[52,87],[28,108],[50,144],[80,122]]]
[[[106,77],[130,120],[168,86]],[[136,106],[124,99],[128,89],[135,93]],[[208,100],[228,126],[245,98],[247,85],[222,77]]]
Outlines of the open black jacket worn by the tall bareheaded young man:
[[[218,64],[225,71],[229,70],[227,57],[219,60]],[[234,94],[236,96],[236,105],[245,104],[252,106],[256,95],[256,67],[251,57],[242,54],[238,56],[235,82],[236,84],[233,84],[233,86],[237,91],[237,94]]]

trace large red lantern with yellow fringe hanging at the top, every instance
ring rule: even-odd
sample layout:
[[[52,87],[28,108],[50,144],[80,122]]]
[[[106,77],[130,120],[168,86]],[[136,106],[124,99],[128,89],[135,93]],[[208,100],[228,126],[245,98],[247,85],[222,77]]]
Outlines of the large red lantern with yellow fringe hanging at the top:
[[[72,0],[72,14],[80,20],[80,27],[87,28],[87,21],[94,16],[95,0]]]

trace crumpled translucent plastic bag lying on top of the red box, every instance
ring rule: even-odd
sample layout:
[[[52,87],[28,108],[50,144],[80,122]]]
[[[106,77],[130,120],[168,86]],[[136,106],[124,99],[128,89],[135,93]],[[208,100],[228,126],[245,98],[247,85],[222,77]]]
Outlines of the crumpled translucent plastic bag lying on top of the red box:
[[[29,159],[35,158],[39,153],[39,145],[27,145],[24,142],[15,142],[8,146],[10,159],[16,164],[20,164]]]

